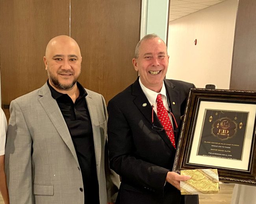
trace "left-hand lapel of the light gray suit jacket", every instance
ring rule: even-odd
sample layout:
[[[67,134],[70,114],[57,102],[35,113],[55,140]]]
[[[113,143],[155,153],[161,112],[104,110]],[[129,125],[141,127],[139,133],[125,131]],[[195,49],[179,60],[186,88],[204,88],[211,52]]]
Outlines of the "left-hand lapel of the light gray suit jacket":
[[[43,85],[40,88],[39,96],[41,96],[41,98],[39,98],[39,103],[41,103],[41,105],[45,109],[45,112],[52,121],[52,124],[58,131],[59,135],[61,136],[67,147],[70,149],[76,161],[78,162],[76,151],[74,149],[74,144],[71,140],[71,136],[69,133],[69,129],[67,128],[66,122],[61,114],[61,111],[59,110],[58,103],[51,95],[47,83],[45,83],[45,85]]]

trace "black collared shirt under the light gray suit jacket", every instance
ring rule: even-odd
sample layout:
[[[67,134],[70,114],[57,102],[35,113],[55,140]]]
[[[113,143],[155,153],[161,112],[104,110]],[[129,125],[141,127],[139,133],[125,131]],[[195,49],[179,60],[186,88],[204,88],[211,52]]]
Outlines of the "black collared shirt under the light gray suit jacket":
[[[99,203],[98,180],[96,173],[95,149],[93,142],[93,129],[91,118],[85,97],[87,92],[80,83],[76,83],[79,89],[79,96],[73,103],[67,94],[56,91],[50,84],[52,97],[56,99],[59,109],[66,121],[69,133],[76,150],[76,155],[80,165],[85,204]],[[79,189],[78,189],[79,190]]]

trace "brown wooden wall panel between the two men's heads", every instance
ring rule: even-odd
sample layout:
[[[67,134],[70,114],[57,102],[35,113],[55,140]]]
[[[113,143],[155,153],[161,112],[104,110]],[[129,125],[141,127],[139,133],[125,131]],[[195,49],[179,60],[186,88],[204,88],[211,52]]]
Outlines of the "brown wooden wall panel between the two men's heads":
[[[83,57],[79,81],[106,102],[137,78],[140,13],[140,0],[71,0],[71,37]]]

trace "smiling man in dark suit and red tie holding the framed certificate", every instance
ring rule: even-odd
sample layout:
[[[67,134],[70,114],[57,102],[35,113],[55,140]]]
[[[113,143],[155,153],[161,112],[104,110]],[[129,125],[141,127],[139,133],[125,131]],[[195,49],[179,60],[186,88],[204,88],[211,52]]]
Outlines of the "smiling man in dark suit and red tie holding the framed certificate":
[[[197,195],[180,195],[180,181],[190,176],[172,171],[176,149],[156,115],[156,97],[161,94],[174,131],[178,131],[187,95],[194,85],[164,79],[169,55],[165,43],[155,34],[139,41],[132,61],[138,79],[108,103],[110,167],[122,179],[116,203],[197,204]]]

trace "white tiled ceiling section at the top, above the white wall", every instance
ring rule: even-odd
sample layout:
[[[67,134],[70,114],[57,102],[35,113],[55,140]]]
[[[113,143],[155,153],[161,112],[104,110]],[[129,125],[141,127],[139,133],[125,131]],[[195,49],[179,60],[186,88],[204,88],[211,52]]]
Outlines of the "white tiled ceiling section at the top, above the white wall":
[[[195,13],[224,0],[171,0],[169,21]]]

